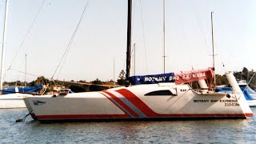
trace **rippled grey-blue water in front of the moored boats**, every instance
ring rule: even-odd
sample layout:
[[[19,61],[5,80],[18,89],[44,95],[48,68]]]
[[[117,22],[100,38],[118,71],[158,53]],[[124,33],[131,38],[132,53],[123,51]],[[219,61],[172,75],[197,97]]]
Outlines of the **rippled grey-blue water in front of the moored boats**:
[[[256,114],[256,108],[252,108]],[[245,120],[66,122],[23,118],[26,109],[0,110],[0,143],[255,143],[256,116]]]

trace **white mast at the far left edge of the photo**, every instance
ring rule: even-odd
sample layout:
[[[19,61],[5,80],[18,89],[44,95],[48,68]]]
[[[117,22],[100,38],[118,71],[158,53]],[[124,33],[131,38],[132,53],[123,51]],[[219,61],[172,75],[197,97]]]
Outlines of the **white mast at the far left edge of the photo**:
[[[4,60],[6,53],[6,28],[7,28],[7,14],[8,14],[8,0],[6,0],[6,10],[5,10],[5,18],[4,18],[4,26],[3,26],[3,35],[2,35],[2,57],[1,57],[1,70],[0,70],[0,90],[2,90],[3,83],[3,73],[4,73]]]

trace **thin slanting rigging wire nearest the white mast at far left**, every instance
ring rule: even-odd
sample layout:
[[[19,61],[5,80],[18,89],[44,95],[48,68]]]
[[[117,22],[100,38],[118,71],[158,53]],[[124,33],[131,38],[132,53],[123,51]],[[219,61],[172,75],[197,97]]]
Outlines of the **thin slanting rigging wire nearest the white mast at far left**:
[[[43,4],[44,4],[45,2],[46,2],[46,0],[43,0],[42,4],[41,4],[41,6],[40,6],[40,8],[39,8],[39,10],[38,10],[38,13],[35,15],[34,20],[33,20],[32,24],[31,24],[29,30],[26,32],[26,36],[23,38],[22,43],[21,43],[21,45],[19,46],[19,50],[18,50],[17,53],[15,54],[13,61],[10,62],[10,66],[9,66],[9,68],[8,68],[6,71],[10,70],[11,66],[14,64],[14,61],[15,61],[15,59],[16,59],[17,56],[18,56],[18,53],[22,50],[22,46],[23,46],[23,44],[24,44],[24,42],[25,42],[27,36],[30,34],[30,30],[31,30],[32,27],[34,26],[34,22],[35,22],[36,19],[38,18],[38,14],[39,14],[40,11],[42,10],[42,6],[43,6]],[[6,76],[6,71],[5,71],[5,73],[4,73],[3,78],[5,78],[5,76]]]

